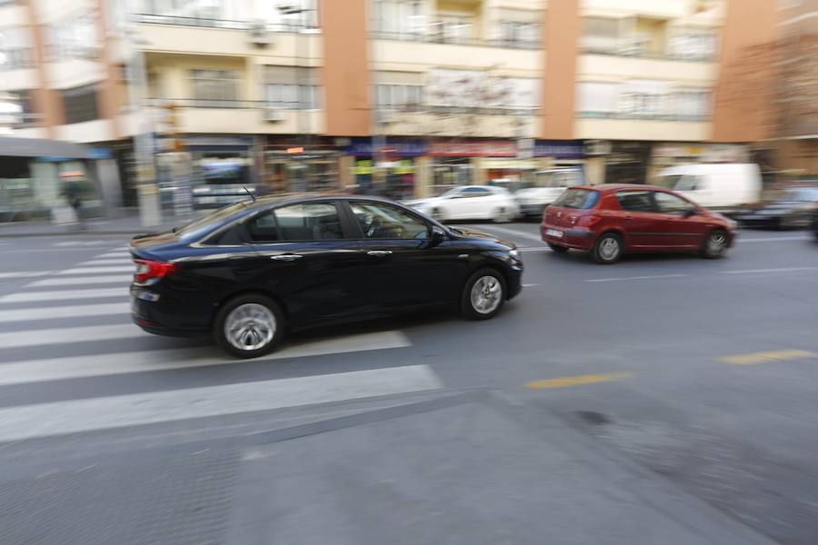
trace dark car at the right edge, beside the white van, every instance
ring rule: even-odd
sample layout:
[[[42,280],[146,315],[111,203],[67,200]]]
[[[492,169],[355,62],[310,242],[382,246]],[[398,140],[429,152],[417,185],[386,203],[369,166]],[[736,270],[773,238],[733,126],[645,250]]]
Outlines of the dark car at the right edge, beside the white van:
[[[747,227],[807,229],[813,222],[818,188],[791,187],[773,201],[745,207],[735,219]]]

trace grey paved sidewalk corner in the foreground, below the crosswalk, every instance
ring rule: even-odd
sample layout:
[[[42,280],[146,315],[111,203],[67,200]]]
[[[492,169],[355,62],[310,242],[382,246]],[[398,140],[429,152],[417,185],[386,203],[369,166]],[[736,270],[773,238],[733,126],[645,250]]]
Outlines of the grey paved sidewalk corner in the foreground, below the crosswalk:
[[[323,418],[305,423],[256,414],[264,431],[221,440],[202,422],[211,438],[96,451],[106,460],[64,459],[75,467],[60,471],[6,464],[15,486],[0,507],[15,516],[0,535],[33,545],[774,543],[492,391],[396,402],[317,407]]]

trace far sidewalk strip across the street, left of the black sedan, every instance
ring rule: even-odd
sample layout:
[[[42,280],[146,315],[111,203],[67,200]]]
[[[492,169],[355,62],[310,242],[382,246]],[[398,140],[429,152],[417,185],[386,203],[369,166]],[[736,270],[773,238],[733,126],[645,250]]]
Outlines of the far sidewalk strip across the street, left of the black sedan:
[[[30,222],[0,223],[0,238],[10,238],[16,236],[85,236],[85,235],[105,235],[105,234],[127,234],[147,233],[151,231],[162,231],[170,229],[176,225],[190,221],[189,218],[175,217],[173,215],[163,216],[163,222],[156,227],[145,227],[139,219],[139,213],[135,210],[120,211],[123,215],[116,218],[100,218],[85,222],[85,229],[80,231],[75,224],[60,225],[48,220]]]

